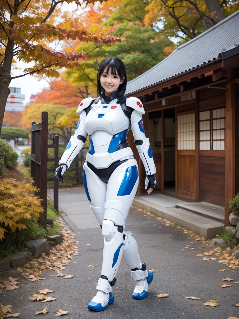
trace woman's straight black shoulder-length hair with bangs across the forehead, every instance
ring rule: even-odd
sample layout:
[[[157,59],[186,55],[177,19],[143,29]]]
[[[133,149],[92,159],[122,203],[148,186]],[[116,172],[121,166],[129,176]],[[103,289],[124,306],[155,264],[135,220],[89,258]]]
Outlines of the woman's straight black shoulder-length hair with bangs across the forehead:
[[[125,65],[123,61],[121,61],[119,58],[112,57],[112,56],[107,57],[100,62],[98,73],[97,73],[97,93],[98,93],[98,96],[100,96],[101,98],[104,98],[104,95],[102,95],[103,88],[100,84],[100,77],[102,73],[104,72],[105,68],[107,68],[106,73],[108,73],[109,69],[111,69],[111,73],[113,75],[116,75],[116,71],[117,71],[120,77],[120,80],[122,80],[123,77],[125,77],[123,83],[119,85],[118,94],[116,95],[116,98],[120,100],[125,94],[126,85],[127,85]]]

